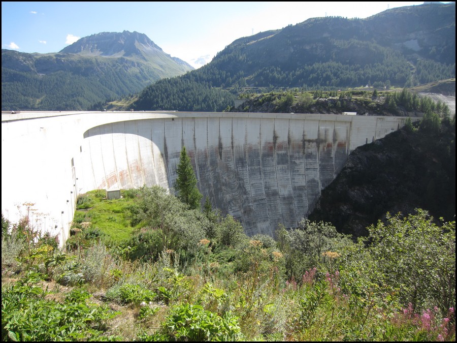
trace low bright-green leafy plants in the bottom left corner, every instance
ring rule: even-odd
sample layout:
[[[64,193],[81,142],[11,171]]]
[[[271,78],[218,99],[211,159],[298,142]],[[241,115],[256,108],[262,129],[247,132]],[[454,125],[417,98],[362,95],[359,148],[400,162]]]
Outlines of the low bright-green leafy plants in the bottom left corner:
[[[2,287],[2,341],[106,340],[106,322],[117,313],[88,303],[90,294],[80,289],[63,302],[49,300],[46,294],[36,285],[19,282]]]

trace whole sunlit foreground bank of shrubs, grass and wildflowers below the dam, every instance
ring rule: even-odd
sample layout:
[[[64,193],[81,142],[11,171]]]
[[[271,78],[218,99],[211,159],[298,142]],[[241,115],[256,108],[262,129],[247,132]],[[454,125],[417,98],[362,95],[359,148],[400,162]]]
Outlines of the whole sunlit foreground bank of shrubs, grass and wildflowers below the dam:
[[[81,195],[63,248],[2,215],[3,341],[455,340],[455,221],[247,237],[208,200],[122,195]]]

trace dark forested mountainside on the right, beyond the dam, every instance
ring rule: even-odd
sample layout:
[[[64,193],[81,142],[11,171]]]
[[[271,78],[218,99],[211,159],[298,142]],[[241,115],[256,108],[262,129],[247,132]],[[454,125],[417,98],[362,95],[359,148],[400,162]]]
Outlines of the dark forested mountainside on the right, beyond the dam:
[[[138,110],[221,111],[248,87],[413,87],[455,78],[455,3],[390,9],[366,19],[311,18],[240,38],[198,70],[146,87]],[[219,94],[214,88],[221,88]],[[211,91],[210,91],[211,90]],[[205,96],[199,96],[205,93]],[[218,104],[214,98],[226,102]]]

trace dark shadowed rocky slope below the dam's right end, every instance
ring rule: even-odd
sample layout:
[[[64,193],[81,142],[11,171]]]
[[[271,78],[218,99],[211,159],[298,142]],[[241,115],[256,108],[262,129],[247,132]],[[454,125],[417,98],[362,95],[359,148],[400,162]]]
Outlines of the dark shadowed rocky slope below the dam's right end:
[[[439,133],[400,130],[355,149],[308,219],[358,237],[386,212],[415,208],[455,219],[455,123]]]

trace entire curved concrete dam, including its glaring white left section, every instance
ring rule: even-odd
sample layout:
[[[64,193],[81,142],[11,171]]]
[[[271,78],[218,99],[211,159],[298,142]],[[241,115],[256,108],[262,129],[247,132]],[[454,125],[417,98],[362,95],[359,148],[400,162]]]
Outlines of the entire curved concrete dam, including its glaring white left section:
[[[170,192],[183,146],[203,201],[245,233],[297,227],[356,147],[406,117],[216,112],[2,114],[2,213],[69,236],[78,195],[160,185]]]

